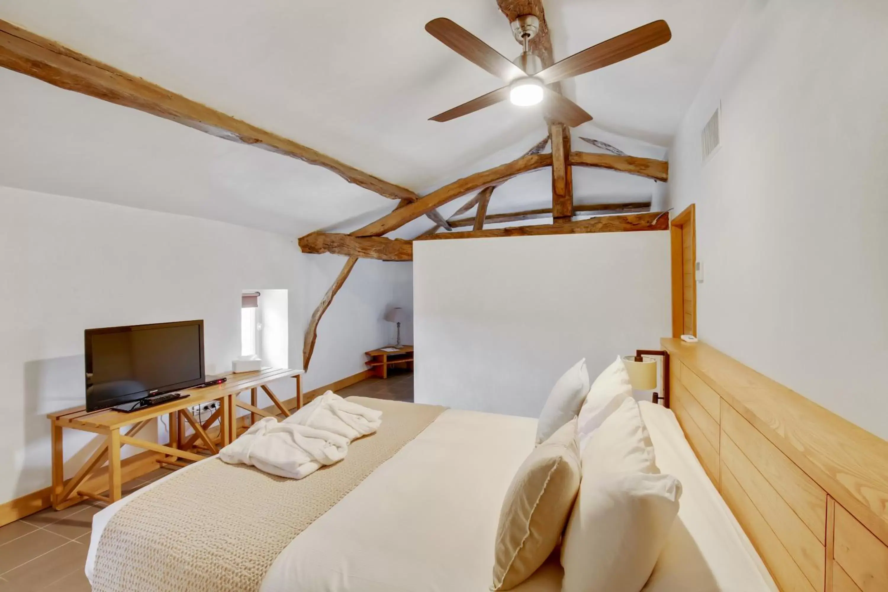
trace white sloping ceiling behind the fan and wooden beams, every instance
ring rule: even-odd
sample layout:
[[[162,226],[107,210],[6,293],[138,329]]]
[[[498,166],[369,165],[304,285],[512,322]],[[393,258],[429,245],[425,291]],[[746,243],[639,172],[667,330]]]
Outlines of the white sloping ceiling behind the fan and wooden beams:
[[[651,20],[672,41],[568,83],[594,122],[578,136],[662,157],[740,0],[549,0],[556,59]],[[494,0],[0,0],[0,19],[293,138],[418,193],[519,156],[539,115],[509,104],[427,118],[498,81],[424,31],[446,16],[508,57]],[[209,217],[280,233],[347,230],[395,202],[317,167],[0,70],[0,185]],[[631,139],[630,139],[631,138]],[[576,170],[580,202],[650,197],[654,182]],[[467,198],[466,198],[467,199]],[[497,189],[490,211],[543,207],[545,171]],[[456,209],[461,201],[442,212]],[[429,223],[416,221],[404,235]]]

